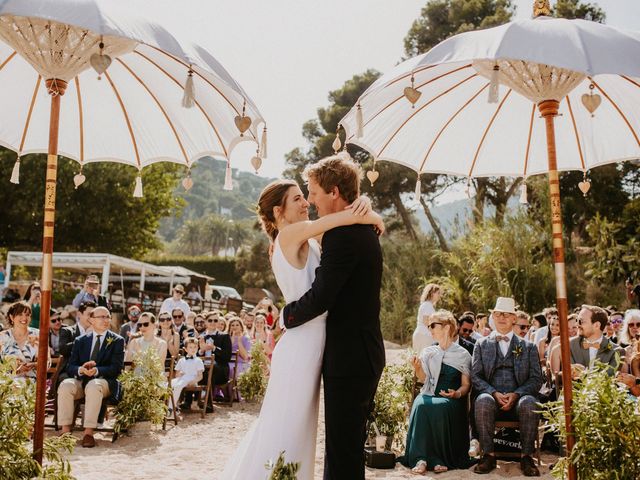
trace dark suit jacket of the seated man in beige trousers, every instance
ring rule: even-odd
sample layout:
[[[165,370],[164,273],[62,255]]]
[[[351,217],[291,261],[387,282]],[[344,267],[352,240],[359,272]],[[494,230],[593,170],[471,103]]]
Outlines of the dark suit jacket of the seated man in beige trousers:
[[[79,368],[89,361],[91,358],[91,345],[93,343],[94,333],[87,333],[78,337],[73,342],[71,349],[71,357],[67,365],[67,374],[69,377],[77,378],[82,384],[87,384],[93,378],[104,378],[109,383],[111,392],[110,401],[116,403],[120,400],[120,382],[118,376],[124,367],[124,339],[120,335],[116,335],[111,331],[105,333],[102,339],[98,358],[96,359],[96,367],[98,374],[96,377],[87,377],[78,373]]]

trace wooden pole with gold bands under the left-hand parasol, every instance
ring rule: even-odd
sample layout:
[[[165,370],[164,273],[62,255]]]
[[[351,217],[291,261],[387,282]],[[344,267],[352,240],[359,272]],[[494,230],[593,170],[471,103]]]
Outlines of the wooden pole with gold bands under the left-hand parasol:
[[[42,465],[44,442],[44,404],[47,388],[47,361],[49,359],[49,309],[53,285],[53,229],[56,212],[56,180],[58,176],[58,129],[60,125],[60,97],[67,82],[49,79],[45,82],[51,95],[49,117],[49,148],[47,150],[47,177],[44,191],[44,229],[42,234],[42,299],[40,301],[40,335],[36,371],[36,415],[33,427],[33,458]],[[52,385],[55,388],[55,385]]]

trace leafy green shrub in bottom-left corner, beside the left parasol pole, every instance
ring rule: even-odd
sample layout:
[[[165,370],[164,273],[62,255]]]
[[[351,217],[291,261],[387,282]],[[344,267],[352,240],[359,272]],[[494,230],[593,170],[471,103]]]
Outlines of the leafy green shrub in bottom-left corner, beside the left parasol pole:
[[[76,443],[70,434],[44,440],[43,466],[33,459],[35,384],[14,380],[15,366],[13,360],[0,361],[0,478],[73,480],[71,465],[64,458]]]

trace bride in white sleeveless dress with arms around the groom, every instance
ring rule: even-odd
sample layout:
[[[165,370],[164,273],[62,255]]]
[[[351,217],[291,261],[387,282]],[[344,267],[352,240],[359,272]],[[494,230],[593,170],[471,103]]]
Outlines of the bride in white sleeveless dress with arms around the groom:
[[[366,197],[314,221],[308,209],[309,202],[292,180],[267,185],[258,200],[260,221],[273,242],[271,266],[287,303],[311,287],[320,265],[318,239],[324,232],[356,223],[384,230]],[[286,462],[300,462],[299,480],[313,479],[326,316],[287,330],[276,345],[260,416],[228,461],[222,480],[266,478],[265,464],[275,463],[282,451]]]

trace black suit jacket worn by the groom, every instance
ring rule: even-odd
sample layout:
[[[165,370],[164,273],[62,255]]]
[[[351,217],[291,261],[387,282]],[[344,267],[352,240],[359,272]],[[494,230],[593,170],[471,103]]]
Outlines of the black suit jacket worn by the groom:
[[[338,227],[324,234],[311,289],[283,312],[287,328],[329,312],[323,375],[379,377],[382,373],[381,278],[382,251],[371,225]]]

